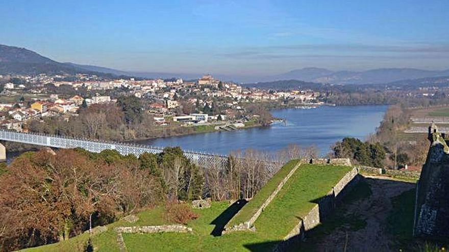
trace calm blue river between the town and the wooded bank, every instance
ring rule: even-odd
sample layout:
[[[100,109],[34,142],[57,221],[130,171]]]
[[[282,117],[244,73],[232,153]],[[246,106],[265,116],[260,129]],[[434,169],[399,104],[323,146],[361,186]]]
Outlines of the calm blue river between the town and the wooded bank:
[[[280,109],[271,114],[284,118],[286,123],[268,127],[231,132],[149,139],[139,143],[156,146],[180,146],[184,150],[198,150],[228,154],[247,148],[277,151],[289,144],[315,145],[322,155],[343,137],[365,139],[379,126],[387,106],[320,106],[313,109]]]

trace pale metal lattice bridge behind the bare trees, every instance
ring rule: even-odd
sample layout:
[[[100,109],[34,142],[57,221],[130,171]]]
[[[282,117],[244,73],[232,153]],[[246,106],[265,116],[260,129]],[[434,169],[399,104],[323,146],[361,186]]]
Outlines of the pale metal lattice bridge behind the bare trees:
[[[0,140],[63,149],[82,148],[95,153],[104,150],[117,150],[121,155],[133,154],[136,157],[139,157],[140,154],[145,152],[157,154],[163,151],[163,148],[161,147],[149,145],[105,142],[36,133],[19,133],[7,130],[0,130]],[[224,167],[228,163],[228,156],[223,155],[192,151],[184,151],[184,155],[194,163],[205,167],[208,167],[209,165],[219,165]]]

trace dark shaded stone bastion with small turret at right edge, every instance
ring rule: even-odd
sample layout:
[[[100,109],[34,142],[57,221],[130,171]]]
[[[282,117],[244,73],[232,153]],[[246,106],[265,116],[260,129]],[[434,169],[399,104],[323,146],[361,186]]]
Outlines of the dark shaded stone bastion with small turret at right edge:
[[[435,124],[429,127],[431,142],[426,163],[416,184],[415,236],[449,238],[449,148]]]

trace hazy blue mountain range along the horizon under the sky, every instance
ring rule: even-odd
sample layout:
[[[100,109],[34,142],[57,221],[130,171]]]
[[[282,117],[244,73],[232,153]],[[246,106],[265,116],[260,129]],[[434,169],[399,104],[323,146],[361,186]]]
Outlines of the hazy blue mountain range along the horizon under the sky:
[[[201,73],[134,72],[112,68],[60,63],[42,55],[15,46],[0,45],[0,74],[76,74],[90,73],[106,76],[133,76],[144,78],[184,78],[197,79]],[[449,76],[449,69],[443,71],[413,68],[381,68],[367,71],[332,71],[325,68],[309,67],[271,76],[239,76],[214,74],[217,78],[236,82],[271,82],[276,80],[302,80],[306,82],[334,84],[377,84],[418,78]]]

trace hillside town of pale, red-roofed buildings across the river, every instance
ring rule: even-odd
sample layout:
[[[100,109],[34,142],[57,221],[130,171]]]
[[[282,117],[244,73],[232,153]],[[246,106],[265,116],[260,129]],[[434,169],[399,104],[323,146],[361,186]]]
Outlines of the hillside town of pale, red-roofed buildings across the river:
[[[318,105],[318,92],[311,90],[268,91],[222,82],[211,75],[197,80],[107,79],[95,75],[75,76],[39,74],[0,76],[3,91],[0,101],[1,127],[27,132],[32,120],[79,116],[80,108],[93,104],[115,104],[120,96],[142,101],[145,114],[154,126],[218,125],[215,130],[234,130],[248,124],[269,124],[252,114],[248,106],[273,103],[286,106]],[[259,117],[259,118],[258,118]],[[253,123],[254,121],[258,123]],[[248,123],[250,122],[250,123]],[[220,127],[220,125],[231,125]],[[149,126],[149,125],[148,125]]]

